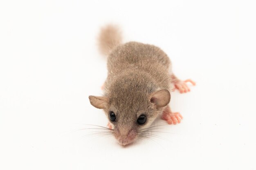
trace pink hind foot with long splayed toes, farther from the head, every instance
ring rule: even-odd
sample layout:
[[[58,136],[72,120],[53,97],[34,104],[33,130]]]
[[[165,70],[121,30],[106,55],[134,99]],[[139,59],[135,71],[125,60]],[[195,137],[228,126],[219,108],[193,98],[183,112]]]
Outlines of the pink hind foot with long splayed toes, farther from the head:
[[[175,91],[175,89],[177,89],[178,91],[180,91],[180,93],[187,93],[190,91],[189,86],[186,84],[186,82],[190,82],[191,84],[193,84],[193,86],[195,86],[195,82],[192,81],[191,79],[186,79],[185,81],[181,81],[180,79],[178,79],[175,75],[171,75],[172,78],[172,83],[174,84],[174,88],[173,91]]]

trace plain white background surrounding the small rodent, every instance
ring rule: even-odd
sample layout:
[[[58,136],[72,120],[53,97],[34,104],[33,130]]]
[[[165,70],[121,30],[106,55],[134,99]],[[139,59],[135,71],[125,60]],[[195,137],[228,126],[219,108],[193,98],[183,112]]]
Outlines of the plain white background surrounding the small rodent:
[[[0,1],[0,169],[256,170],[256,6],[243,0]],[[155,44],[191,92],[172,93],[184,120],[121,147],[106,126],[99,28]],[[157,123],[161,123],[158,120]],[[162,122],[161,124],[165,124]]]

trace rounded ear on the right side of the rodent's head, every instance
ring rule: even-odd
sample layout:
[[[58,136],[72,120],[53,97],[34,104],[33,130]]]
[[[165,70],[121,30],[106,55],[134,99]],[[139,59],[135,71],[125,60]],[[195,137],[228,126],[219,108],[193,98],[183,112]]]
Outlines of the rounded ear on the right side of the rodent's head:
[[[168,90],[163,89],[159,90],[157,92],[152,93],[150,95],[150,102],[153,102],[157,108],[162,108],[169,104],[171,99],[171,94]]]

